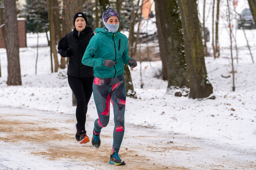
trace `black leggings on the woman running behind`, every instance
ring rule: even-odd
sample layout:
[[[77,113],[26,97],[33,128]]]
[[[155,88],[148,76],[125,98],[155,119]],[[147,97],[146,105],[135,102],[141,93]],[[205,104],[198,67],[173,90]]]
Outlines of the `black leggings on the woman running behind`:
[[[68,76],[69,86],[77,101],[75,115],[78,127],[80,132],[84,131],[85,133],[87,106],[93,93],[93,79],[94,77],[76,78]]]

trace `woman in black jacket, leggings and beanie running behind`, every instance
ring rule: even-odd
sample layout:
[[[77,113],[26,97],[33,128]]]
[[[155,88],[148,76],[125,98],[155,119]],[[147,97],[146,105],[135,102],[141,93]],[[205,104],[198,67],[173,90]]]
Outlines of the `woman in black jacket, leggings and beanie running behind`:
[[[73,23],[74,30],[60,40],[58,53],[62,57],[69,57],[68,82],[77,100],[75,139],[81,144],[90,141],[86,135],[85,121],[94,78],[93,67],[85,66],[81,61],[94,33],[91,27],[87,27],[88,21],[84,13],[76,13]]]

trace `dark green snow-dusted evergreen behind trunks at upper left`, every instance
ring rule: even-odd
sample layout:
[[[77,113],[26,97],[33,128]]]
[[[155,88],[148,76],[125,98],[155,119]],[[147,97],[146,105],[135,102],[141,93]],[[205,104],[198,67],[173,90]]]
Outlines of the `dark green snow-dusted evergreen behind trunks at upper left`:
[[[26,32],[37,33],[37,19],[39,16],[39,32],[49,30],[46,0],[26,0],[24,18],[27,18]]]

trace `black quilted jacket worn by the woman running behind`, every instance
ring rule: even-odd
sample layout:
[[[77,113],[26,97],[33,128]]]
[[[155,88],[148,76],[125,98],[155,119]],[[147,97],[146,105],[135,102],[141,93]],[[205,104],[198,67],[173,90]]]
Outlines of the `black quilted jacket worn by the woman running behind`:
[[[72,51],[72,56],[69,57],[68,76],[77,78],[93,77],[93,67],[85,66],[81,63],[86,47],[93,35],[93,29],[86,27],[82,32],[74,29],[61,38],[58,45],[58,53],[62,57],[69,57],[66,54],[66,50]]]

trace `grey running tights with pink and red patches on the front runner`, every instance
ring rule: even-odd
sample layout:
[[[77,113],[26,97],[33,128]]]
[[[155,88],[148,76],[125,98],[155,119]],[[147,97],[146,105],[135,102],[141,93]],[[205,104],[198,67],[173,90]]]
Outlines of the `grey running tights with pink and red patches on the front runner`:
[[[94,78],[93,98],[99,118],[94,122],[94,133],[99,135],[101,129],[109,122],[110,101],[114,112],[114,132],[112,152],[119,152],[125,131],[126,89],[123,75],[114,78]]]

